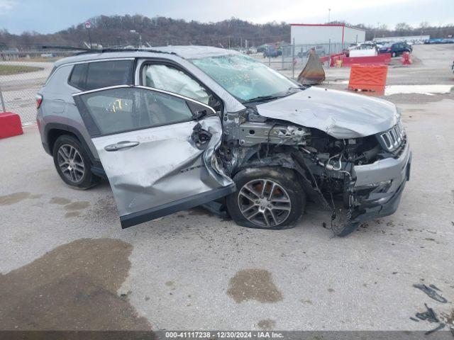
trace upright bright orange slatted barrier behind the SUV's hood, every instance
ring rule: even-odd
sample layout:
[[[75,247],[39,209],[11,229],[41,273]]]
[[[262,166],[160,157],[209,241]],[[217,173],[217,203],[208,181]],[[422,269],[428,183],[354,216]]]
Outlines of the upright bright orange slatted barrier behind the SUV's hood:
[[[353,64],[350,69],[348,89],[384,91],[388,65],[360,65]]]

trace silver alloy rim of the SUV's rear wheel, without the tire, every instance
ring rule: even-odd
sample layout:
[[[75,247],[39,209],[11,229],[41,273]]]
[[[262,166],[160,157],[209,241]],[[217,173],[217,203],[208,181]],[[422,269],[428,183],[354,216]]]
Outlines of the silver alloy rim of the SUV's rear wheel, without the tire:
[[[77,183],[84,176],[84,159],[72,145],[65,144],[58,149],[57,162],[62,174],[70,181]]]

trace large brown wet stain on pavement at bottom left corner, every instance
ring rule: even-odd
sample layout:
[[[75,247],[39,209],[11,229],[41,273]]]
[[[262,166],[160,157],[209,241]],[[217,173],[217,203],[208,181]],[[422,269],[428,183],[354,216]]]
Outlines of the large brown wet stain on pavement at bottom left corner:
[[[132,248],[118,239],[78,239],[0,274],[0,329],[150,329],[117,295]]]

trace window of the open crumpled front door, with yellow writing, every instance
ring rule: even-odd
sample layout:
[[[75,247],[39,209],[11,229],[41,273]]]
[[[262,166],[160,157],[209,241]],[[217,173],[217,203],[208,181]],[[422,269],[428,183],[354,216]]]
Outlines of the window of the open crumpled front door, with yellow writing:
[[[146,89],[109,89],[81,98],[101,135],[192,120],[184,99]]]

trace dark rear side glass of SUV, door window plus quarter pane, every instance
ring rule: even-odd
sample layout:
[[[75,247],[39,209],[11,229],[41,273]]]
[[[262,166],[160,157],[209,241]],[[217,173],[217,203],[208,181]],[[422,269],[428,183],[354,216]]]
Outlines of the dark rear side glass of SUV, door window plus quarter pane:
[[[76,64],[68,83],[81,90],[133,84],[133,60]]]

